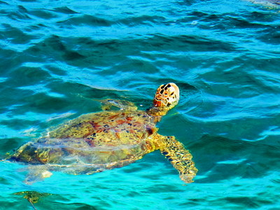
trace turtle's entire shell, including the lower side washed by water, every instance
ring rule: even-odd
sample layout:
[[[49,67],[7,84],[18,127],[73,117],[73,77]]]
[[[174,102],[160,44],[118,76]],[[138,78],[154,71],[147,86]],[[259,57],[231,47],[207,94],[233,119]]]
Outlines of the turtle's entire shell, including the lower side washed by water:
[[[157,130],[145,111],[89,113],[21,146],[10,160],[92,174],[123,167],[158,149]]]

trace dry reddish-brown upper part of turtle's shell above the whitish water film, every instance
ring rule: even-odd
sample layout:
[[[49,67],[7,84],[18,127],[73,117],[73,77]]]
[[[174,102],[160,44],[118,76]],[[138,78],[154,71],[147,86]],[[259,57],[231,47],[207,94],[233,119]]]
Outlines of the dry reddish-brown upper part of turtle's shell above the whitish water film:
[[[153,118],[144,111],[102,111],[89,113],[69,121],[48,137],[83,139],[90,146],[139,144],[158,129]]]

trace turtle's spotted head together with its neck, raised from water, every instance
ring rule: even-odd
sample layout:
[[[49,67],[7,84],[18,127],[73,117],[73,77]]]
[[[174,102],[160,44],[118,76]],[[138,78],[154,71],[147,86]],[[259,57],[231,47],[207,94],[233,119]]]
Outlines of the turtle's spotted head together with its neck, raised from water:
[[[151,116],[165,116],[167,111],[178,104],[179,92],[179,87],[174,83],[160,85],[155,92],[153,107],[148,109],[148,113]]]

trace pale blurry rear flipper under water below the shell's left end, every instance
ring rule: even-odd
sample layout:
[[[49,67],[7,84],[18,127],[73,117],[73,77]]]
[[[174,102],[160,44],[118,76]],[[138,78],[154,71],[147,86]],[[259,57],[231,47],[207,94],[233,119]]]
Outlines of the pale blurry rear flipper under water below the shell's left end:
[[[27,185],[31,185],[37,181],[43,181],[45,178],[52,176],[52,172],[48,171],[48,167],[44,165],[32,165],[27,167],[28,174],[25,179]]]

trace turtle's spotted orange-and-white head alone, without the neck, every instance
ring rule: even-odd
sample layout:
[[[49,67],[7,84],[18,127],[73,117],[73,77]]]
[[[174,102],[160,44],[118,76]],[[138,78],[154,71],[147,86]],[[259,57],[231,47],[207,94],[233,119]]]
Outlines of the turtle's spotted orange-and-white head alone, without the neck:
[[[157,92],[155,92],[153,106],[167,110],[172,109],[179,102],[179,93],[179,87],[174,83],[160,85]]]

